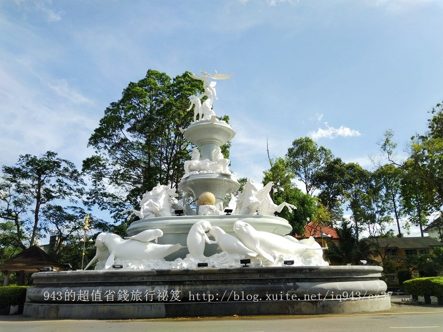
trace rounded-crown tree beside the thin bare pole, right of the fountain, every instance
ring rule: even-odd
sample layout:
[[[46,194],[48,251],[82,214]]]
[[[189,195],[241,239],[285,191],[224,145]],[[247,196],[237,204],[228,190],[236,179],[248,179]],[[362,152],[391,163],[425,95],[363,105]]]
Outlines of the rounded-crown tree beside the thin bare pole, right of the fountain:
[[[329,149],[318,146],[311,138],[301,137],[292,142],[286,157],[291,171],[304,183],[306,193],[312,196],[317,173],[333,156]]]

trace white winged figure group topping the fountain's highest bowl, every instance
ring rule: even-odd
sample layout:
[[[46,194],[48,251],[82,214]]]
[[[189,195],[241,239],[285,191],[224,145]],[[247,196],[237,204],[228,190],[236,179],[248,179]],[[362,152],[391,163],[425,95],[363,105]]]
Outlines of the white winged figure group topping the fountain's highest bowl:
[[[192,77],[195,80],[203,81],[203,88],[205,89],[205,92],[200,95],[192,95],[190,96],[191,105],[189,110],[194,106],[194,122],[196,120],[197,114],[199,115],[199,120],[211,120],[211,116],[215,115],[214,110],[212,109],[212,103],[215,100],[219,100],[217,98],[217,91],[215,89],[215,86],[217,82],[210,81],[209,79],[213,80],[227,80],[228,78],[232,77],[234,74],[219,74],[217,70],[214,70],[215,74],[211,75],[207,73],[204,70],[200,70],[200,73],[203,76],[196,76],[194,74],[190,74],[190,77]],[[201,103],[201,99],[203,97],[207,97],[203,103]],[[198,99],[198,101],[197,101]]]

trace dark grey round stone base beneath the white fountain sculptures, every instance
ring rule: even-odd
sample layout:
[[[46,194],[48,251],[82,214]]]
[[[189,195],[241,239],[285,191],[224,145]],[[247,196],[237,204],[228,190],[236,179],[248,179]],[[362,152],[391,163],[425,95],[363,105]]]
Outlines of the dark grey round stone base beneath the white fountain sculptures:
[[[130,319],[378,311],[390,307],[381,271],[286,266],[38,272],[23,314]]]

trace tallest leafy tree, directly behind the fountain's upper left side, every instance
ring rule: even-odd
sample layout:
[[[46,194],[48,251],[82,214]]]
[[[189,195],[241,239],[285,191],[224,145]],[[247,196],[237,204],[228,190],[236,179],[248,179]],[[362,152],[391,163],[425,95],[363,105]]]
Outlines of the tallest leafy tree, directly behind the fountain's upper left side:
[[[183,162],[190,159],[190,143],[181,130],[192,121],[188,97],[202,91],[202,82],[188,72],[171,80],[150,69],[129,83],[89,140],[96,154],[83,161],[83,170],[92,180],[91,201],[119,220],[119,211],[136,206],[158,182],[177,187]]]

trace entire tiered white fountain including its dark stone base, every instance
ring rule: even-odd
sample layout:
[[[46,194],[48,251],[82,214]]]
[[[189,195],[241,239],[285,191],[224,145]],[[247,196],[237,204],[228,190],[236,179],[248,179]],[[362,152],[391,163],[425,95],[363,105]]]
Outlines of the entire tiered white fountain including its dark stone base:
[[[235,132],[217,119],[212,103],[214,80],[232,75],[201,73],[192,77],[203,81],[205,93],[190,96],[194,121],[184,130],[196,148],[179,184],[198,198],[196,211],[180,207],[175,190],[158,184],[145,193],[140,210],[131,210],[140,220],[129,226],[128,238],[97,236],[97,253],[86,268],[98,260],[94,271],[33,274],[36,286],[28,289],[24,314],[116,319],[389,308],[380,267],[330,267],[313,238],[285,236],[291,226],[274,212],[295,207],[272,202],[272,182],[262,189],[248,182],[224,206],[239,183],[220,147]]]

